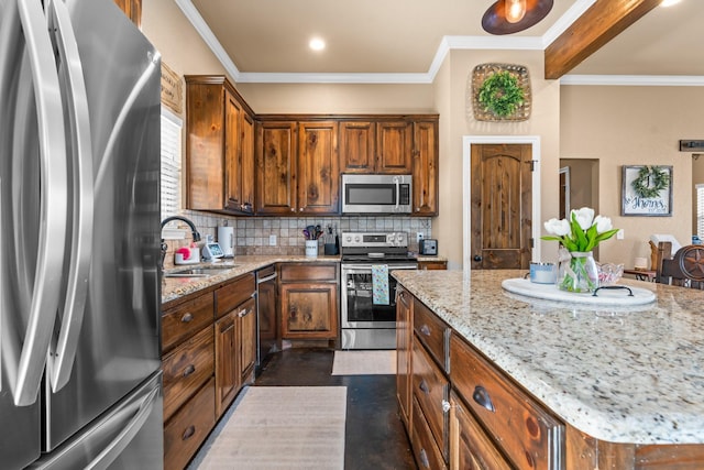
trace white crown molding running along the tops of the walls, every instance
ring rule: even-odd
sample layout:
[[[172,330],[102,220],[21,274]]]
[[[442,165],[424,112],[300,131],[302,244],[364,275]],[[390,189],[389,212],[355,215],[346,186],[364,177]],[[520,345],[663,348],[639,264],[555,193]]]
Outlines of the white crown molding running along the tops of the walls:
[[[218,57],[228,74],[238,83],[250,84],[432,84],[447,55],[453,50],[514,50],[544,51],[596,0],[576,0],[542,36],[443,36],[426,73],[345,74],[345,73],[243,73],[232,62],[222,44],[190,0],[174,0],[188,21]],[[640,75],[565,75],[560,85],[604,86],[704,86],[698,76],[640,76]]]

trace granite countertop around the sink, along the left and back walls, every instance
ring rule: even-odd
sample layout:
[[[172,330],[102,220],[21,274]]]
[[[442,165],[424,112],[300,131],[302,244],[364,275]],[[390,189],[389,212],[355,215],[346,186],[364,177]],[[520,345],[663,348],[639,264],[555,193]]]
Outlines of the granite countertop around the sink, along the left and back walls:
[[[279,263],[279,262],[306,262],[306,263],[321,263],[321,262],[340,262],[339,255],[319,255],[317,258],[308,258],[305,255],[285,255],[285,254],[276,254],[276,255],[243,255],[235,256],[234,260],[226,260],[220,263],[215,263],[215,265],[228,266],[232,265],[232,269],[222,270],[218,272],[218,274],[213,274],[207,277],[163,277],[162,278],[162,305],[168,304],[169,302],[176,300],[185,295],[193,294],[195,292],[201,291],[204,288],[208,288],[221,282],[234,278],[237,276],[241,276],[242,274],[251,273],[261,267],[268,266],[270,264]],[[178,271],[183,269],[189,267],[200,267],[200,266],[209,266],[213,265],[213,263],[199,263],[199,264],[187,264],[174,266],[173,269],[166,270],[169,271]]]

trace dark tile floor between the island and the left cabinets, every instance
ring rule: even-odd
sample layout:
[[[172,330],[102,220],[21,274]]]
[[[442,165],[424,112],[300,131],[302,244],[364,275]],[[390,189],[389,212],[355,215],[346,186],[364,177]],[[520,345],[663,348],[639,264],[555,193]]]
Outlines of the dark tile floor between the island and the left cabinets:
[[[394,375],[331,375],[333,350],[287,349],[271,354],[253,386],[344,385],[345,470],[416,469],[398,416]]]

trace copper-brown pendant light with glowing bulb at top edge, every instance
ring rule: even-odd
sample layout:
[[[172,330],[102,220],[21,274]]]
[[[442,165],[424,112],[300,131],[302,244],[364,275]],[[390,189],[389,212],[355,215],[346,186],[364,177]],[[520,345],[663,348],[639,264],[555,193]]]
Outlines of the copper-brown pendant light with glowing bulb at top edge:
[[[512,34],[538,24],[552,10],[553,0],[498,0],[482,17],[491,34]]]

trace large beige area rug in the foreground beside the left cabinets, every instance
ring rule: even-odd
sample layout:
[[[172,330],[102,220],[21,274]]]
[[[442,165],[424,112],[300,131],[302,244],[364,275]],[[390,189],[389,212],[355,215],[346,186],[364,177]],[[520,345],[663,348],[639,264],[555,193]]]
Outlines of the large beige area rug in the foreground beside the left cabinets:
[[[345,386],[250,386],[199,470],[344,468]]]

